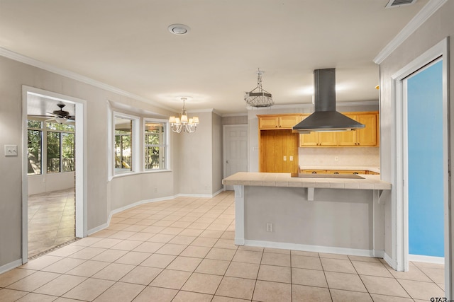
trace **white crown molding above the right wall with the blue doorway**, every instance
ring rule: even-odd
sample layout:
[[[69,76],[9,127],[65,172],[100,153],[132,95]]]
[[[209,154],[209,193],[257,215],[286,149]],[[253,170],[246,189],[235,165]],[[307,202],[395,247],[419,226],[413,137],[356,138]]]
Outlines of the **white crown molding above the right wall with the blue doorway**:
[[[438,8],[441,8],[448,0],[429,0],[419,13],[416,13],[410,22],[386,45],[377,57],[375,57],[375,64],[380,64],[386,59],[389,54],[399,47],[416,29],[418,29],[424,22],[435,13]]]

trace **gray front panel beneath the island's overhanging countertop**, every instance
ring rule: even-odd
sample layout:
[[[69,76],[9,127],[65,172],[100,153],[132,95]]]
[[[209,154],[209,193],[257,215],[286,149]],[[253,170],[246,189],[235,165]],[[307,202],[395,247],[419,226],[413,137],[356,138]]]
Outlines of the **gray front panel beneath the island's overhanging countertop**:
[[[382,226],[382,207],[372,216],[372,190],[245,186],[245,239],[329,248],[374,249],[373,221]],[[334,201],[333,201],[334,200]],[[355,217],[355,219],[352,219]],[[266,224],[273,223],[273,231]],[[375,249],[383,250],[383,232]]]

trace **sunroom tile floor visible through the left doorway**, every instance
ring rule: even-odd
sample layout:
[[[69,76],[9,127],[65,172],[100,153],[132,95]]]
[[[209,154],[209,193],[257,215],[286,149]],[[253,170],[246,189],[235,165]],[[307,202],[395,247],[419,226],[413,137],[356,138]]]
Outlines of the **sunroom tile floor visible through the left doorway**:
[[[74,239],[74,189],[28,197],[28,257]]]

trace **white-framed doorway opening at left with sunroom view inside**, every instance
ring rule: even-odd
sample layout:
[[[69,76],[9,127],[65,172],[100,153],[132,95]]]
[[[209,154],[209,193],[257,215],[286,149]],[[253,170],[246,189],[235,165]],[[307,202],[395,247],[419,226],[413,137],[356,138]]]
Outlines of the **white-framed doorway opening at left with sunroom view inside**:
[[[23,86],[22,261],[87,234],[84,100]],[[76,121],[77,119],[77,121]]]

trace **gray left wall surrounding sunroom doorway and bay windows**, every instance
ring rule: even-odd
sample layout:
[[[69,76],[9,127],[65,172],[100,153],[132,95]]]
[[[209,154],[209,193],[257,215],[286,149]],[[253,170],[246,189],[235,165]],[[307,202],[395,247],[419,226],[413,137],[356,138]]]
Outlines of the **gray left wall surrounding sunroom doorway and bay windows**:
[[[144,117],[169,116],[174,112],[140,102],[124,95],[106,91],[37,67],[0,57],[0,148],[5,144],[18,146],[17,157],[0,156],[0,270],[21,259],[22,207],[22,86],[32,86],[87,102],[87,212],[88,230],[105,225],[115,209],[144,199],[171,197],[179,193],[212,194],[217,192],[212,179],[220,183],[222,169],[214,166],[211,153],[222,144],[213,146],[213,129],[221,137],[221,118],[212,112],[199,115],[201,124],[189,138],[171,134],[172,171],[122,176],[109,180],[107,151],[109,103],[131,108],[134,115]],[[215,120],[213,127],[211,122]],[[187,152],[189,151],[189,152]],[[187,165],[187,166],[185,166]],[[176,177],[175,175],[179,175]],[[199,178],[200,177],[200,178]],[[187,183],[189,181],[189,185]],[[206,186],[206,187],[205,187]],[[219,185],[220,186],[220,185]],[[157,192],[154,188],[157,187]]]

